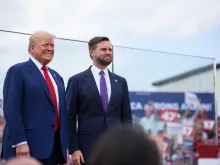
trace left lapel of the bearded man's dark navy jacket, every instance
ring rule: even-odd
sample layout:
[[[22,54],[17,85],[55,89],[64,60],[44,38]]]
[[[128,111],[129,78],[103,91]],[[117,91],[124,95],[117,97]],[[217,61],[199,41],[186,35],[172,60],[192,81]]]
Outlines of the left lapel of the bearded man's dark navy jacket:
[[[91,90],[91,93],[94,93],[94,97],[96,98],[96,102],[99,105],[100,109],[105,112],[103,104],[102,104],[102,100],[99,94],[99,90],[98,87],[96,85],[95,79],[93,77],[92,71],[91,71],[91,67],[89,69],[86,70],[85,74],[85,80],[87,85],[90,87],[89,89]]]

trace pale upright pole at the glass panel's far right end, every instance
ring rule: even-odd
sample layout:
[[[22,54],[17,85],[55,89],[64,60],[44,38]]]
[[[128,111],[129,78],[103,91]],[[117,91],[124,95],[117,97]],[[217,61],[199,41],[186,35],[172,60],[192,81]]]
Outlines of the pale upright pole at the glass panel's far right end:
[[[215,144],[218,145],[218,107],[217,107],[217,89],[216,89],[216,59],[213,60],[213,70],[214,70],[214,109],[215,109]]]

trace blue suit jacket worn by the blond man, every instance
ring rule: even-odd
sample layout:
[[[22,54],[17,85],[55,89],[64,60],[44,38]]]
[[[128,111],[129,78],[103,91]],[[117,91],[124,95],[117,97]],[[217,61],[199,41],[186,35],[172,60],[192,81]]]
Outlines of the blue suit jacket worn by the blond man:
[[[62,77],[52,69],[59,93],[59,120],[62,152],[68,148],[66,95]],[[16,155],[15,148],[27,141],[31,156],[46,159],[53,149],[55,108],[43,75],[33,61],[12,66],[3,89],[6,126],[3,137],[4,159]]]

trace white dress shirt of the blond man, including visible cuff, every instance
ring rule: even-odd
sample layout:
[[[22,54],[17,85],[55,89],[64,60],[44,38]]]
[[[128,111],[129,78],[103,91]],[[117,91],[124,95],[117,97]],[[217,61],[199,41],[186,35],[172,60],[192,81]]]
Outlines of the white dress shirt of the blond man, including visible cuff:
[[[31,60],[32,60],[33,63],[37,66],[37,68],[38,68],[39,71],[41,72],[42,76],[44,77],[44,71],[42,70],[43,65],[42,65],[39,61],[37,61],[35,58],[33,58],[33,57],[31,57]],[[47,69],[48,69],[48,67],[47,67]],[[57,84],[56,84],[56,82],[55,82],[55,80],[54,80],[54,78],[53,78],[53,76],[51,75],[51,73],[50,73],[49,70],[48,70],[48,74],[49,74],[49,77],[50,77],[50,79],[51,79],[51,81],[52,81],[52,83],[53,83],[54,90],[55,90],[55,93],[56,93],[57,105],[58,105],[57,108],[58,108],[58,114],[59,114],[59,94],[58,94],[58,87],[57,87]],[[45,77],[44,77],[44,78],[45,78]],[[16,145],[12,145],[12,147],[17,147],[17,146],[22,145],[22,144],[27,144],[27,142],[24,141],[24,142],[18,143],[18,144],[16,144]]]

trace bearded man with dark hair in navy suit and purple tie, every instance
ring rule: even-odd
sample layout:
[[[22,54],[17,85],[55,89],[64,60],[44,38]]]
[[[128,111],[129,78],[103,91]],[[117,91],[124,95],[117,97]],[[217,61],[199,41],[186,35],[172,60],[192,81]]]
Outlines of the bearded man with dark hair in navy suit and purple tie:
[[[67,85],[69,149],[75,165],[86,162],[108,128],[132,122],[127,82],[107,69],[112,62],[109,39],[94,37],[88,45],[93,65],[72,76]]]

